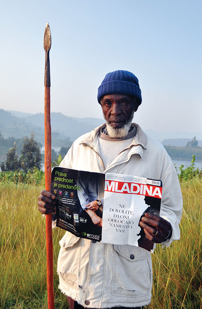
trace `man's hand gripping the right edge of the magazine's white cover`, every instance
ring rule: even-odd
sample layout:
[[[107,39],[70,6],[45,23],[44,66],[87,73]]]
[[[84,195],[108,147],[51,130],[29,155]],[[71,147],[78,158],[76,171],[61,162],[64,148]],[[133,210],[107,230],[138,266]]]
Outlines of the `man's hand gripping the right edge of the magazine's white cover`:
[[[144,229],[146,237],[154,243],[162,243],[171,232],[169,221],[151,213],[145,213],[139,225]]]

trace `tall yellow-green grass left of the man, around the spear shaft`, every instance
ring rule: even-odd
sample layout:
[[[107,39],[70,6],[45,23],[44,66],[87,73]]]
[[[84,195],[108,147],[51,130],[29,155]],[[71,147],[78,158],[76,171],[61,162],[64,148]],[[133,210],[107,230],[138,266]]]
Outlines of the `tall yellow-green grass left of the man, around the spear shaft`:
[[[47,308],[45,220],[37,210],[40,188],[31,185],[1,184],[0,188],[0,307]],[[57,290],[58,241],[64,231],[55,229],[55,307],[67,307]]]

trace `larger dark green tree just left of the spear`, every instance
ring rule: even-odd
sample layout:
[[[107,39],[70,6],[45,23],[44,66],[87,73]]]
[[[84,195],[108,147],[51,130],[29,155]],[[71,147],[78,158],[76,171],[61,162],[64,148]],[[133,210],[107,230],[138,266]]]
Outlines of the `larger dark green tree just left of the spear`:
[[[20,166],[27,172],[33,170],[34,167],[40,170],[41,168],[41,153],[37,141],[34,139],[32,132],[31,137],[24,139],[23,148],[20,156]]]

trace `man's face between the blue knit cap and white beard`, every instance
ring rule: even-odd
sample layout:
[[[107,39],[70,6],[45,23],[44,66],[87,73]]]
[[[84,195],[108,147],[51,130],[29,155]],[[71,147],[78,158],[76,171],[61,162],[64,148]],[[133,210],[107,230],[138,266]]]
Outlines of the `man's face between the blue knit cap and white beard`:
[[[120,129],[132,121],[137,105],[131,97],[122,94],[105,95],[100,101],[106,122],[113,129]]]

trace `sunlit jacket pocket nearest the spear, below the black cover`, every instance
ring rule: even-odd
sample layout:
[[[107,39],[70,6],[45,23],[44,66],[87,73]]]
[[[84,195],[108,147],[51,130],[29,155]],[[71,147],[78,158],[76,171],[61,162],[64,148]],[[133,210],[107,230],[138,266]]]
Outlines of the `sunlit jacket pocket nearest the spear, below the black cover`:
[[[78,289],[80,238],[66,232],[59,242],[61,250],[58,256],[58,274],[60,283]]]

